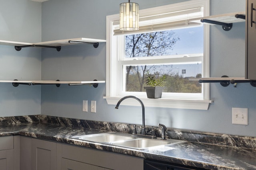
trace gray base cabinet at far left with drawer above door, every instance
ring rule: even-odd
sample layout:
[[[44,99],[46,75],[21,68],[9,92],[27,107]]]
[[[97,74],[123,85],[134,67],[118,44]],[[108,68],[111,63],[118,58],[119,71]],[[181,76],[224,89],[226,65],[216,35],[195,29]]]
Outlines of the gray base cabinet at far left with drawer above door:
[[[1,170],[19,170],[19,153],[19,136],[0,137]]]

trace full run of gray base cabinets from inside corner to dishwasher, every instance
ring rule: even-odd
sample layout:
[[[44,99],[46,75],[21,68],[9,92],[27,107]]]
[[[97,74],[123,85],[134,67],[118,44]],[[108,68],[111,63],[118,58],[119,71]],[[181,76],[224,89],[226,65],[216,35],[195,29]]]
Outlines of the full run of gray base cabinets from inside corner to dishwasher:
[[[124,154],[20,137],[20,170],[143,170],[143,161]]]

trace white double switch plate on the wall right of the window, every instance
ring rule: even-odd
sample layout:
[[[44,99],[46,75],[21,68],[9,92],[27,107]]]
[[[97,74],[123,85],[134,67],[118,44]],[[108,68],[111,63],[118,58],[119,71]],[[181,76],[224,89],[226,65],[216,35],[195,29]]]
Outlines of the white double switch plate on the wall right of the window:
[[[248,108],[232,107],[232,124],[248,125]]]

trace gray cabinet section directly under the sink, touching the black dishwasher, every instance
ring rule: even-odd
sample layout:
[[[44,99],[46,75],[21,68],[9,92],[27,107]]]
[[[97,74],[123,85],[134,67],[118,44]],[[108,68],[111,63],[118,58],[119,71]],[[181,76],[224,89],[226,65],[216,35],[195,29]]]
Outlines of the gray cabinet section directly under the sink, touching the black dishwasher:
[[[80,170],[87,166],[90,166],[89,170],[143,170],[143,158],[124,154],[62,144],[61,155],[61,170]],[[71,168],[66,165],[69,163]]]

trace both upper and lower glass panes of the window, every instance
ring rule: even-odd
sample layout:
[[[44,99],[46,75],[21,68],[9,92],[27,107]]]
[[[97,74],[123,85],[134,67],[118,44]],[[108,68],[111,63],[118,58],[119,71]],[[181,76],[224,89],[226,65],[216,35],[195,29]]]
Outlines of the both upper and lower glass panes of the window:
[[[165,76],[165,89],[170,93],[202,93],[202,86],[188,78],[202,77],[202,61],[172,63],[175,58],[186,58],[203,54],[203,26],[186,27],[168,31],[140,33],[125,36],[125,55],[121,60],[144,60],[144,63],[122,65],[123,90],[126,92],[145,92],[145,73],[147,70],[155,78]],[[134,63],[134,61],[133,61]],[[140,61],[141,63],[141,61]],[[125,74],[124,74],[125,73]]]

